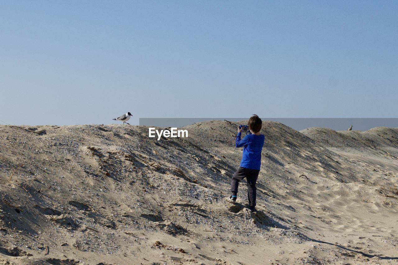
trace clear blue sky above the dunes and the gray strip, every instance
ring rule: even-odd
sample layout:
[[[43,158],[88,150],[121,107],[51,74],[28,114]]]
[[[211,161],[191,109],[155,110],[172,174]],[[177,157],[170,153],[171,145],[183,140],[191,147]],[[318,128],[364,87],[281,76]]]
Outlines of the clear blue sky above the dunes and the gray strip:
[[[0,124],[398,117],[398,1],[2,1]]]

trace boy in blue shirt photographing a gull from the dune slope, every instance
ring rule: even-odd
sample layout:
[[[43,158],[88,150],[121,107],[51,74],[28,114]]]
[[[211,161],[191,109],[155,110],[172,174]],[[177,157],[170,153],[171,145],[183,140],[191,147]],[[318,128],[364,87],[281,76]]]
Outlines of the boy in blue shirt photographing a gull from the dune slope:
[[[250,211],[256,212],[256,181],[260,172],[261,150],[263,149],[265,136],[260,134],[262,121],[256,114],[250,117],[248,125],[252,134],[247,134],[242,140],[240,136],[242,135],[243,127],[238,127],[235,146],[237,148],[244,146],[242,161],[240,162],[240,168],[232,177],[231,196],[226,198],[226,200],[230,203],[236,202],[239,181],[246,177]]]

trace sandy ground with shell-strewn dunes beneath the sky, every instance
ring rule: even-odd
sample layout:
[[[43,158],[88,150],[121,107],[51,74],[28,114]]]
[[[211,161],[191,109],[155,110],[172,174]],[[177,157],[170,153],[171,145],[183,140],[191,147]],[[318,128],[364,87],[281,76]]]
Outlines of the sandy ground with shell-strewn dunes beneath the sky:
[[[238,124],[0,126],[0,264],[398,263],[397,128],[263,122],[251,214]]]

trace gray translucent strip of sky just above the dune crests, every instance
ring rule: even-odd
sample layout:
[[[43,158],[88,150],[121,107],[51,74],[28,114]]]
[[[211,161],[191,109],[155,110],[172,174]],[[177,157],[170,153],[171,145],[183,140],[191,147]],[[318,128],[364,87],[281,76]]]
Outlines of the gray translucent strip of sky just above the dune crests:
[[[326,127],[336,131],[367,131],[375,127],[398,127],[398,118],[261,118],[263,121],[278,121],[297,131],[310,127]],[[247,121],[248,118],[140,118],[140,125],[153,127],[177,127],[202,121]]]

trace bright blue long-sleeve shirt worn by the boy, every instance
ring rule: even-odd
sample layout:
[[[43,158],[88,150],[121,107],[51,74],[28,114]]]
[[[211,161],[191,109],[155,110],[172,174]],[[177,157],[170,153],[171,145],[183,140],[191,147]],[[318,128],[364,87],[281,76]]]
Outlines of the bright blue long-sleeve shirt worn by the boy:
[[[249,168],[259,170],[261,166],[261,150],[263,149],[265,136],[263,134],[247,134],[242,140],[240,136],[242,133],[238,133],[236,136],[235,146],[243,146],[242,161],[240,166],[242,168]]]

